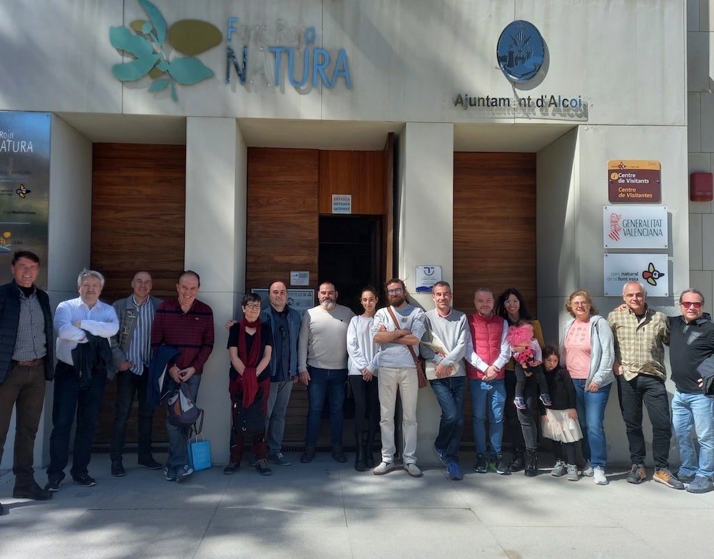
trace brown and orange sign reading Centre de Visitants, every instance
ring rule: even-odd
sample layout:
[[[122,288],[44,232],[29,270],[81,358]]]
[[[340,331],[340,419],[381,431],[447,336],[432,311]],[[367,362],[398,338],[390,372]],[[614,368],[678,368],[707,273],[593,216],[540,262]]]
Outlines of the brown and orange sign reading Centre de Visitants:
[[[661,166],[658,161],[610,159],[608,199],[615,204],[662,201]]]

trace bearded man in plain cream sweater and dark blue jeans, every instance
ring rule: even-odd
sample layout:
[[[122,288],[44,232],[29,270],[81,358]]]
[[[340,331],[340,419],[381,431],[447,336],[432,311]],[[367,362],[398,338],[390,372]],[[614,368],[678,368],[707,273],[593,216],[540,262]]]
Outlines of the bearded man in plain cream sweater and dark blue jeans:
[[[308,420],[303,463],[312,462],[325,395],[330,399],[332,457],[346,462],[342,450],[343,407],[347,381],[347,327],[354,313],[337,305],[337,290],[332,282],[323,282],[318,289],[317,307],[303,315],[298,337],[298,378],[308,387]]]

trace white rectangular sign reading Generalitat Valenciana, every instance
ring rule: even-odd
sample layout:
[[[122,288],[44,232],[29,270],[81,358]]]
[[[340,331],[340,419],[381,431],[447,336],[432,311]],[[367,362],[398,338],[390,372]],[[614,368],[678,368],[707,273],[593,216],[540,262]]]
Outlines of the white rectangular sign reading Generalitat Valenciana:
[[[666,206],[603,206],[606,249],[666,249],[668,238]]]

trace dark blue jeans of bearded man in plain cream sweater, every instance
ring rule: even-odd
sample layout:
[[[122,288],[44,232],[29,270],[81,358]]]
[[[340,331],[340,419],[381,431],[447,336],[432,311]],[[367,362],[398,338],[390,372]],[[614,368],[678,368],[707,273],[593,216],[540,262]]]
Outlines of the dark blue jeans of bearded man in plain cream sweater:
[[[310,382],[308,382],[308,425],[306,442],[317,442],[320,433],[322,408],[325,406],[325,395],[330,398],[330,442],[333,445],[342,444],[343,408],[345,405],[346,369],[319,369],[309,367]]]

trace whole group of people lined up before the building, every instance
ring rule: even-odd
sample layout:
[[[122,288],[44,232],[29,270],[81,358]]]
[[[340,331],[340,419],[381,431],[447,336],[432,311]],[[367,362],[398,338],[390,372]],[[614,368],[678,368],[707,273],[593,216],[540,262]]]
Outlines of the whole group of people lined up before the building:
[[[162,465],[151,455],[154,410],[171,381],[185,382],[196,400],[203,365],[213,350],[213,313],[196,299],[200,277],[191,270],[181,272],[177,296],[161,301],[151,295],[151,275],[137,272],[132,294],[106,305],[99,300],[104,277],[84,269],[77,278],[79,297],[61,302],[53,319],[49,297],[34,285],[39,267],[36,254],[18,251],[11,261],[14,280],[0,286],[0,458],[15,408],[14,498],[46,500],[59,490],[75,417],[70,475],[80,485],[96,484],[88,466],[108,377],[116,377],[117,387],[111,475],[126,474],[122,453],[135,397],[138,465],[160,470]],[[576,481],[582,474],[606,485],[603,419],[616,382],[632,462],[627,481],[640,483],[647,476],[642,425],[646,407],[653,427],[653,479],[691,493],[714,489],[714,323],[703,312],[704,297],[698,290],[685,290],[679,300],[681,314],[668,317],[648,307],[641,283],[628,282],[624,304],[607,319],[598,314],[587,291],[575,291],[565,305],[571,318],[555,347],[544,344],[538,320],[528,314],[514,288],[498,300],[490,289],[478,288],[476,312],[468,317],[451,307],[448,282],[433,286],[434,308],[426,312],[408,301],[402,280],[389,280],[385,289],[388,305],[380,309],[378,291],[362,290],[361,315],[337,304],[338,292],[331,282],[319,286],[318,305],[302,318],[288,306],[283,282],[269,287],[265,308],[258,295],[243,297],[242,319],[226,324],[228,392],[233,407],[256,402],[262,407],[265,429],[253,435],[251,445],[256,472],[271,475],[268,462],[291,465],[282,452],[286,410],[293,384],[302,382],[308,412],[301,462],[311,462],[316,455],[326,397],[331,455],[346,462],[343,407],[349,392],[355,403],[355,470],[369,468],[384,475],[398,469],[401,455],[399,469],[421,477],[416,405],[418,390],[428,382],[441,407],[433,450],[448,478],[461,480],[458,450],[468,382],[477,473],[509,475],[523,470],[526,476],[535,476],[535,418],[540,417],[543,435],[553,441],[552,475],[567,474],[568,480]],[[664,345],[670,347],[675,384],[671,408]],[[162,375],[168,375],[163,386]],[[34,479],[33,447],[46,381],[53,379],[50,464],[48,481],[41,488]],[[399,448],[396,421],[402,426]],[[513,446],[510,463],[502,452],[504,423]],[[188,461],[190,429],[169,422],[166,427],[169,457],[164,476],[181,482],[193,473]],[[681,457],[676,476],[668,462],[672,429]],[[378,430],[377,462],[373,443]],[[233,426],[224,473],[241,467],[244,439]],[[580,465],[578,442],[584,461]]]

